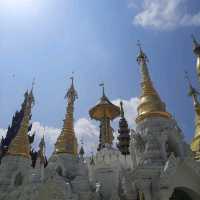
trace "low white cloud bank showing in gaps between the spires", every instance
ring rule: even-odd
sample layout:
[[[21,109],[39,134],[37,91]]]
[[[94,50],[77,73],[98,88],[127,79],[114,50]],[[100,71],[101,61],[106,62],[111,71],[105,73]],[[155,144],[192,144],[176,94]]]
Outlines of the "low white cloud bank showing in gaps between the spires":
[[[120,105],[120,99],[112,101],[116,105]],[[123,100],[125,117],[130,125],[130,128],[135,127],[135,118],[137,115],[137,105],[138,98],[131,98],[130,100]],[[117,131],[118,129],[118,120],[113,122],[113,127]],[[84,149],[87,154],[90,154],[91,151],[97,149],[99,141],[99,127],[98,123],[95,121],[89,120],[87,118],[80,118],[75,122],[75,132],[80,143],[81,140],[84,142]],[[118,133],[115,131],[114,135]],[[54,151],[54,144],[59,136],[61,129],[55,127],[44,126],[40,122],[34,122],[32,126],[32,133],[36,133],[35,142],[33,147],[38,148],[39,141],[45,132],[45,141],[46,141],[46,152],[49,157]],[[6,129],[0,129],[0,137],[5,136]]]

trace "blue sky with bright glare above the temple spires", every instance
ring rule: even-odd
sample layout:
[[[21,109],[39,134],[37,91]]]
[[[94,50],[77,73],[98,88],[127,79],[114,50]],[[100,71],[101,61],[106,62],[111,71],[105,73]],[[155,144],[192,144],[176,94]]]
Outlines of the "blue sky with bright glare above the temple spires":
[[[34,77],[33,121],[48,127],[62,127],[72,71],[76,120],[88,118],[102,81],[111,100],[139,96],[140,40],[155,87],[190,140],[194,112],[184,70],[198,88],[190,35],[200,40],[199,8],[199,0],[0,0],[0,127],[7,128]]]

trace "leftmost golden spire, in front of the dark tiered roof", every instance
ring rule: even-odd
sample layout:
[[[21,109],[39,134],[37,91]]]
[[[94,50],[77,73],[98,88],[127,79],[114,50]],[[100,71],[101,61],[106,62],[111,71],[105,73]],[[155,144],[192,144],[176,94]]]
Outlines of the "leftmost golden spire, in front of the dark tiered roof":
[[[28,131],[30,130],[29,121],[31,119],[31,109],[35,102],[33,96],[33,87],[30,92],[26,92],[24,95],[24,102],[19,115],[21,115],[21,123],[18,124],[18,131],[16,136],[12,139],[8,146],[8,154],[19,155],[28,157],[30,156],[30,142]]]

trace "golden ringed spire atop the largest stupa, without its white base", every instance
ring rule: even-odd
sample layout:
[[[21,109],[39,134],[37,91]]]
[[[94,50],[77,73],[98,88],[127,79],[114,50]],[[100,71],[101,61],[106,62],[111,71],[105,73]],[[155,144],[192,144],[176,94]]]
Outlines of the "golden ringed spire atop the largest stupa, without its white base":
[[[143,52],[141,45],[138,44],[138,46],[140,48],[140,52],[137,57],[137,62],[140,65],[142,75],[142,94],[140,96],[138,117],[136,118],[136,122],[138,123],[145,118],[157,116],[170,118],[171,115],[166,112],[165,103],[161,101],[159,94],[155,90],[151,81],[151,77],[147,67],[147,63],[149,62],[149,60],[146,54]]]

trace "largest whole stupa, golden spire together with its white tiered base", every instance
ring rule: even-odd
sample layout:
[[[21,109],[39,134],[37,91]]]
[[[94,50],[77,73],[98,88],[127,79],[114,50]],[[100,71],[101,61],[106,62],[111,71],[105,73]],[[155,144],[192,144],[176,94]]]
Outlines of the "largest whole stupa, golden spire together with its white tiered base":
[[[186,150],[188,146],[183,141],[176,120],[167,112],[165,103],[153,86],[147,66],[148,58],[141,46],[137,62],[141,70],[141,96],[136,129],[131,135],[130,151],[135,168],[133,180],[137,185],[138,199],[171,199],[169,188],[172,184],[168,182],[170,172],[176,158],[182,159],[190,151]],[[158,177],[162,177],[162,180],[156,181]],[[159,189],[152,190],[152,186]]]

